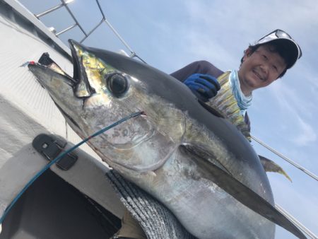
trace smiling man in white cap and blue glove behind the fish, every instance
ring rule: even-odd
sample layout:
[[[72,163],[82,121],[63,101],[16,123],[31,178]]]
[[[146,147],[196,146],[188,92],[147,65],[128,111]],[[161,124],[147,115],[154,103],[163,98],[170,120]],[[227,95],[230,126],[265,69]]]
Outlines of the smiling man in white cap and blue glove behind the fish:
[[[249,45],[238,71],[223,72],[209,62],[199,61],[184,66],[171,76],[184,82],[199,100],[208,104],[215,102],[213,107],[223,112],[233,124],[245,123],[246,127],[238,128],[249,139],[247,108],[252,103],[252,91],[281,78],[301,56],[301,49],[295,40],[278,29],[261,37],[254,45]],[[122,228],[113,238],[146,239],[146,235],[126,210]]]

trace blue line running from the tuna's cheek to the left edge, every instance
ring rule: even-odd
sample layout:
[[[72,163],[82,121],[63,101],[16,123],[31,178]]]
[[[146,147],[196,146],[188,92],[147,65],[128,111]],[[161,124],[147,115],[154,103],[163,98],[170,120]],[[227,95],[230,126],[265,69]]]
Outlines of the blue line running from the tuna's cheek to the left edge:
[[[8,207],[6,208],[6,210],[4,211],[4,215],[1,216],[0,219],[0,225],[1,223],[4,221],[4,218],[6,217],[6,215],[8,214],[8,212],[11,210],[11,208],[13,207],[14,204],[16,204],[16,202],[18,201],[18,199],[22,196],[22,194],[25,192],[25,190],[28,189],[28,187],[30,187],[30,185],[33,184],[33,182],[35,180],[37,180],[38,177],[40,177],[40,175],[42,175],[42,173],[45,173],[45,170],[47,170],[49,167],[51,167],[54,163],[57,163],[57,161],[59,161],[60,158],[63,158],[67,153],[70,153],[71,151],[73,151],[75,148],[78,148],[79,146],[81,146],[82,144],[86,143],[88,140],[94,138],[95,136],[98,136],[99,134],[104,133],[105,131],[107,131],[108,129],[111,129],[112,127],[117,126],[118,124],[121,124],[122,122],[126,121],[127,119],[131,119],[133,117],[139,116],[139,115],[143,115],[143,112],[136,112],[133,113],[127,117],[124,117],[122,119],[119,119],[117,122],[114,122],[114,124],[111,124],[107,127],[105,127],[104,129],[101,129],[100,131],[96,132],[95,134],[92,134],[90,136],[88,136],[86,139],[83,139],[83,141],[81,141],[80,143],[76,144],[75,146],[69,148],[67,151],[64,151],[64,153],[61,153],[59,156],[57,156],[57,158],[54,158],[54,160],[52,160],[51,162],[49,162],[47,165],[45,165],[44,168],[42,168],[42,170],[40,170],[40,172],[38,172],[26,185],[25,187],[23,187],[23,190],[21,190],[18,195],[13,199],[13,201],[8,205]]]

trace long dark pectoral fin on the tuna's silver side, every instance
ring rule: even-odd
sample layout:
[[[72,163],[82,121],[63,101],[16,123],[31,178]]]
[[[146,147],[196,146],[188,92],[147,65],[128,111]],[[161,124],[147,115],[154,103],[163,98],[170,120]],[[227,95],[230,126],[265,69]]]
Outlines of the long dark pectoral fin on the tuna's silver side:
[[[288,220],[288,218],[259,196],[259,194],[243,185],[242,182],[236,180],[235,177],[215,163],[202,158],[206,153],[200,152],[200,148],[182,145],[180,146],[180,150],[184,151],[184,153],[188,153],[192,157],[192,160],[199,165],[198,168],[202,170],[201,173],[206,175],[208,180],[215,182],[216,185],[225,190],[225,192],[228,192],[228,194],[237,199],[237,201],[241,202],[249,209],[252,209],[257,214],[269,219],[269,221],[273,221],[273,223],[290,231],[290,233],[293,233],[298,238],[306,238],[305,235],[290,220]]]

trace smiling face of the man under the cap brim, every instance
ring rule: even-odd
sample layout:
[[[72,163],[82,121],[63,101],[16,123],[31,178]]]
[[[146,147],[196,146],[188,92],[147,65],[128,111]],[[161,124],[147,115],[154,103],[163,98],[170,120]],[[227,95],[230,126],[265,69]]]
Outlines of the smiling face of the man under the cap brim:
[[[269,86],[285,70],[286,63],[277,52],[271,52],[269,45],[262,45],[251,54],[245,51],[238,71],[242,92],[249,95],[257,88]]]

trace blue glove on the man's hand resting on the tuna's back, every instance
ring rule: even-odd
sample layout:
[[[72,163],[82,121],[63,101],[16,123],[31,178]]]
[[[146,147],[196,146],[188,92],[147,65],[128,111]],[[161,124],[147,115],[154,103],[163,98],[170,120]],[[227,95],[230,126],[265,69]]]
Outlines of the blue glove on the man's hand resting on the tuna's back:
[[[186,78],[183,83],[203,102],[207,102],[210,98],[216,96],[216,93],[220,90],[218,80],[207,74],[193,74]]]

